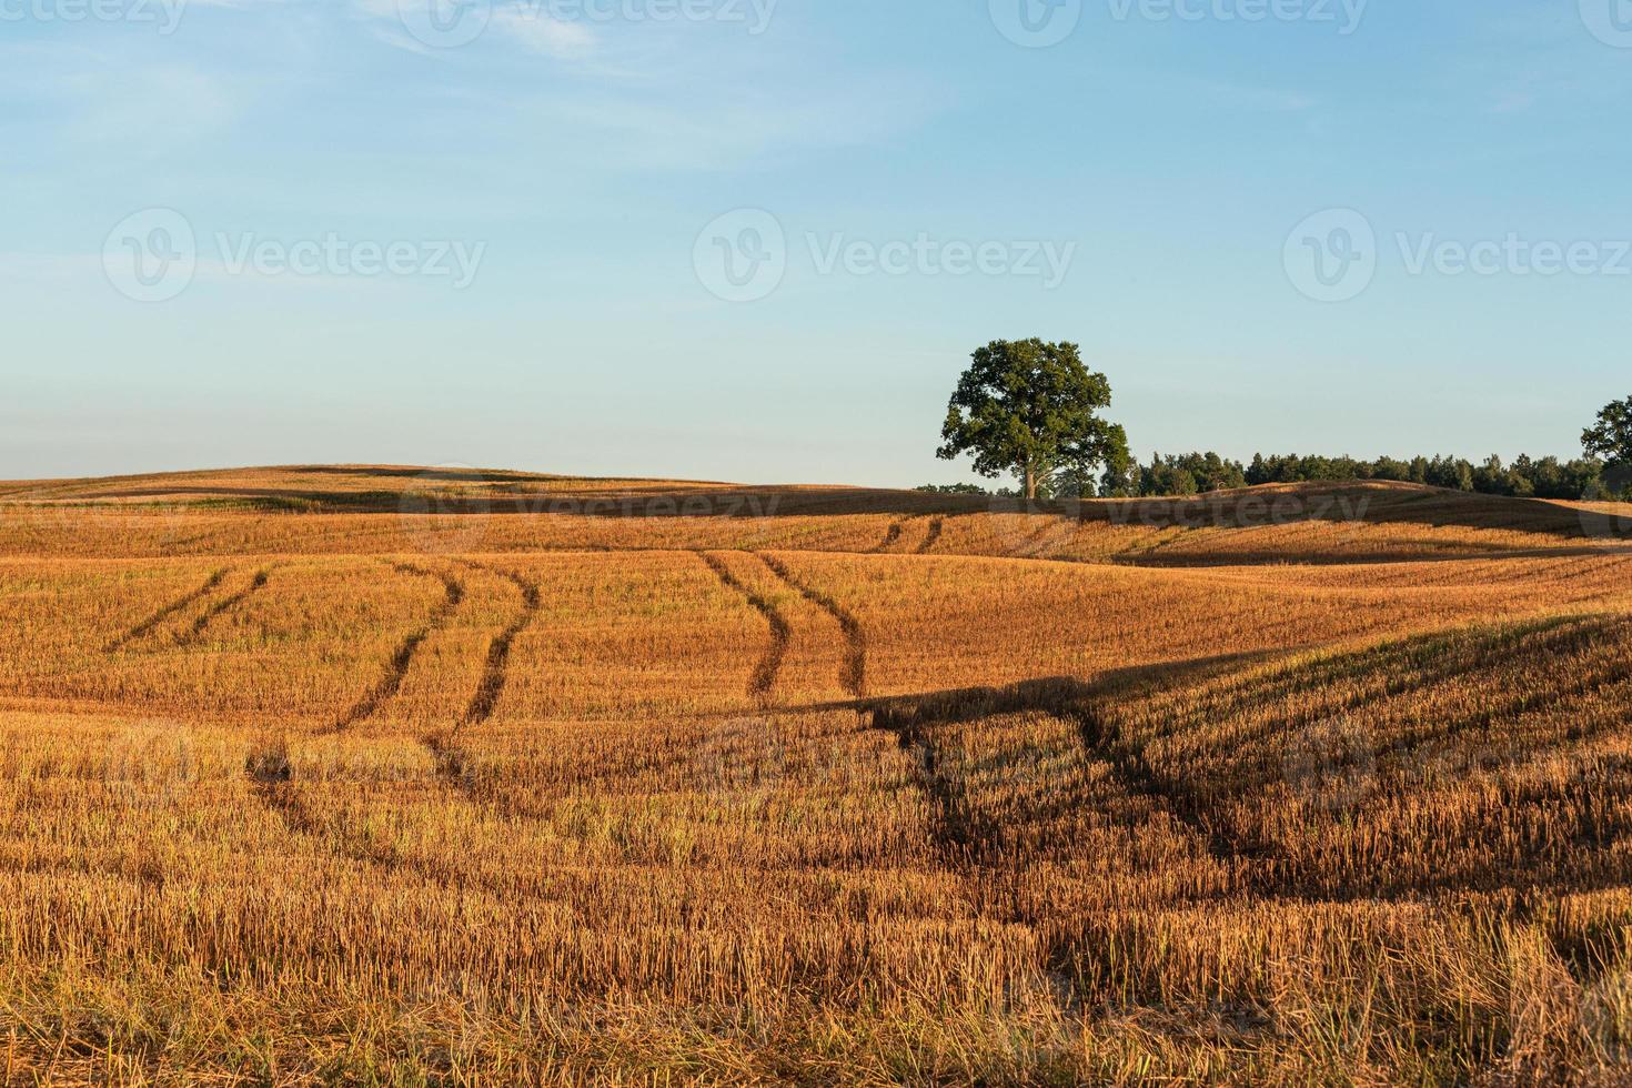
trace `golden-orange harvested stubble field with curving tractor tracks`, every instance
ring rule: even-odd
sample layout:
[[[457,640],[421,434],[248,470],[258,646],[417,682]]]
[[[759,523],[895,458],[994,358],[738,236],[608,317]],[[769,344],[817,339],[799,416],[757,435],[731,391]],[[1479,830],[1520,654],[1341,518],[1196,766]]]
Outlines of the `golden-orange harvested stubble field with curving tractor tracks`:
[[[1625,1083],[1632,509],[0,484],[8,1083]]]

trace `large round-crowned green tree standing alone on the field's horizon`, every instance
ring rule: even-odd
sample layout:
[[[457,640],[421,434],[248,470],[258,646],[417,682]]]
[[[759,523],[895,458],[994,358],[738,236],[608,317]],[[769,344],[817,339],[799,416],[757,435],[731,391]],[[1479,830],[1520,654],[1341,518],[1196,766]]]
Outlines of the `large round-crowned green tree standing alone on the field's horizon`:
[[[992,341],[958,380],[942,427],[942,460],[974,455],[974,471],[1013,473],[1027,499],[1056,475],[1090,480],[1095,467],[1126,471],[1128,434],[1097,413],[1111,383],[1082,365],[1075,344]]]

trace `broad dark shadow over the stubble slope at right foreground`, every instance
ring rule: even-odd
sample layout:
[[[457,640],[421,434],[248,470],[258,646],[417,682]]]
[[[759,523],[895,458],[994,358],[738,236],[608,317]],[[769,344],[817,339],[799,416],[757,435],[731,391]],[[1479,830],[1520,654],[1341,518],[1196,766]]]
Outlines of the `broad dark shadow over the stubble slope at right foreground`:
[[[1346,902],[1632,882],[1632,773],[1619,749],[1593,747],[1632,721],[1625,617],[1464,628],[1244,674],[1250,661],[860,706],[916,755],[937,840],[976,865],[1015,858],[999,856],[1005,829],[937,732],[1043,713],[1188,827],[1244,894]]]

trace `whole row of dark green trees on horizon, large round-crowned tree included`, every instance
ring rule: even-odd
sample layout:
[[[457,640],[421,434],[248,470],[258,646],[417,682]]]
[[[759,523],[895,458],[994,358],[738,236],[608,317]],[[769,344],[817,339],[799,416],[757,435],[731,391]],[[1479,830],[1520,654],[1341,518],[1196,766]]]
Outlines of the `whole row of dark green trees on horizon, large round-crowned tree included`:
[[[1353,457],[1265,457],[1250,465],[1217,453],[1155,455],[1139,465],[1121,426],[1102,419],[1111,403],[1103,374],[1090,372],[1075,344],[992,341],[974,352],[947,406],[943,460],[974,457],[974,471],[1013,475],[1020,498],[1186,496],[1266,483],[1392,480],[1454,491],[1539,499],[1632,499],[1632,396],[1598,413],[1581,434],[1586,457],[1459,457],[1373,462]],[[973,484],[925,491],[987,494]]]

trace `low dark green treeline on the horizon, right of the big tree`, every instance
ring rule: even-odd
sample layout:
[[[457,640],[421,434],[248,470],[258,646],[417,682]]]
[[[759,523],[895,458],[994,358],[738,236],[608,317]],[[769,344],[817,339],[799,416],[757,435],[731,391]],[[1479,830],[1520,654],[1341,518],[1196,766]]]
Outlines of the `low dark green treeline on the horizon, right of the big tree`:
[[[1056,475],[1048,481],[1049,498],[1160,498],[1203,494],[1229,488],[1247,488],[1265,483],[1306,481],[1361,481],[1389,480],[1420,483],[1452,491],[1477,491],[1521,499],[1583,499],[1609,498],[1621,493],[1619,486],[1603,483],[1604,463],[1593,458],[1562,462],[1557,457],[1519,457],[1511,465],[1500,457],[1483,463],[1462,457],[1413,457],[1395,460],[1379,457],[1363,462],[1353,457],[1301,457],[1263,455],[1250,465],[1227,460],[1217,453],[1154,455],[1149,465],[1129,465],[1126,471],[1106,471],[1098,480],[1084,480],[1071,473]],[[1013,496],[1010,488],[996,493],[973,484],[925,486],[920,491],[937,494],[997,494]]]

